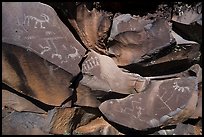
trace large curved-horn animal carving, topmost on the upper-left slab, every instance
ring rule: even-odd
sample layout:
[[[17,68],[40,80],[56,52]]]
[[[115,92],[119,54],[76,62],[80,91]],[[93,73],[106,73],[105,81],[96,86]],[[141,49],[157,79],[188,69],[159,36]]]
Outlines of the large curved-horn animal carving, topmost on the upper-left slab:
[[[30,26],[30,20],[35,20],[35,25],[34,25],[34,28],[38,28],[37,25],[40,24],[40,28],[41,29],[45,29],[45,27],[43,26],[43,23],[49,23],[49,16],[42,13],[40,15],[43,19],[38,19],[34,16],[31,16],[31,15],[25,15],[24,14],[24,21],[23,21],[23,24],[27,25],[27,26]]]

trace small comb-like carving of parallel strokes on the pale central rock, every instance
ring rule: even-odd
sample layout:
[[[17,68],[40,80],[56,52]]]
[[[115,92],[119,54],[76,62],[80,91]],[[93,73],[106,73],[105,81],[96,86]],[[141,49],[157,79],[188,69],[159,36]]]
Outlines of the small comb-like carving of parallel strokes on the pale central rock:
[[[100,63],[98,57],[91,57],[82,64],[82,69],[84,72],[88,72],[99,65]]]

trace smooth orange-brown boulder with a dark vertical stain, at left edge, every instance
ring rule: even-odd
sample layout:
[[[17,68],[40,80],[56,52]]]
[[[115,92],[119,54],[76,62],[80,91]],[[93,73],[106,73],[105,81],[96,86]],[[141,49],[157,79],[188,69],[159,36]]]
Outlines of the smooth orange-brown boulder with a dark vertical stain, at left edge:
[[[26,49],[2,43],[2,82],[45,104],[60,106],[72,95],[72,74]],[[71,106],[71,100],[68,100]]]

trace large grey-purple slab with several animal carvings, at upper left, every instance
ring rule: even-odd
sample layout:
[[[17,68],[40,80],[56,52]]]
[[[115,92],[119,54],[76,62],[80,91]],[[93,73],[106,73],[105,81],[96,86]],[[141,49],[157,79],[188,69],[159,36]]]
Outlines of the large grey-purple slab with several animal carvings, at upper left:
[[[74,76],[86,52],[56,12],[38,2],[3,3],[2,41],[35,52]]]

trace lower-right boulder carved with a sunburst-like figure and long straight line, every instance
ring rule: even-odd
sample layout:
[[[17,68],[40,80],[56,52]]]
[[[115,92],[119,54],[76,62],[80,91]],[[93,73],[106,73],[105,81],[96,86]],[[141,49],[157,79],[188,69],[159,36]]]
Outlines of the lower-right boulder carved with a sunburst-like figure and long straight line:
[[[198,100],[195,77],[151,81],[145,92],[103,102],[99,109],[120,125],[145,130],[188,119]]]

